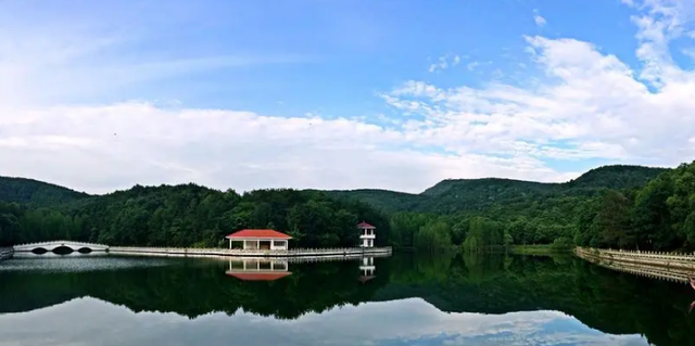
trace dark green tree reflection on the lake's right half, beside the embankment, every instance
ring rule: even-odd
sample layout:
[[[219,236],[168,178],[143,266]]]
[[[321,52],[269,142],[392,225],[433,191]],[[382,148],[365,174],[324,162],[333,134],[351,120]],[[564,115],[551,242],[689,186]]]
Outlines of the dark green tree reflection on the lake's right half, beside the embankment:
[[[422,297],[447,312],[506,313],[559,310],[611,334],[644,334],[655,345],[695,345],[695,319],[686,316],[690,287],[633,277],[573,257],[458,256],[448,278],[391,282],[375,299]],[[407,294],[403,294],[407,293]]]

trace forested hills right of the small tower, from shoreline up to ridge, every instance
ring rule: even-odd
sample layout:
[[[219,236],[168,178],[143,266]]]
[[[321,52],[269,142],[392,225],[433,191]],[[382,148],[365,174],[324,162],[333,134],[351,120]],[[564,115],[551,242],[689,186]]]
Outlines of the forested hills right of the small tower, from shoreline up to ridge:
[[[421,194],[329,191],[390,213],[394,246],[695,249],[695,163],[606,166],[566,183],[445,180]],[[380,198],[382,197],[382,198]],[[372,201],[379,201],[375,203]]]

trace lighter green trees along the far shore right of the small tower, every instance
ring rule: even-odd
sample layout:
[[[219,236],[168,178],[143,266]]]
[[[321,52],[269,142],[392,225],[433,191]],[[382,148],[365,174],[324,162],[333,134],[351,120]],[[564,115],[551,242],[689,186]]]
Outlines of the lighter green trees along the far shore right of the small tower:
[[[394,213],[394,246],[467,252],[547,244],[658,251],[695,249],[695,162],[640,188],[526,194],[480,210]]]

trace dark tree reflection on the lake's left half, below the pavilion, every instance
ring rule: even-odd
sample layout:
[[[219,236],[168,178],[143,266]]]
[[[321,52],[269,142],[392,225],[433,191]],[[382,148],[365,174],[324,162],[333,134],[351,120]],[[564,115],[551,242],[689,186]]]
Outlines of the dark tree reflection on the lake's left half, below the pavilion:
[[[378,262],[379,259],[376,259]],[[227,261],[181,261],[127,271],[3,273],[0,312],[26,311],[75,297],[92,296],[134,311],[176,312],[194,318],[238,309],[282,319],[367,302],[388,277],[357,281],[357,261],[292,265],[277,281],[241,281],[225,274]],[[378,266],[378,265],[377,265]],[[386,272],[384,270],[380,271]],[[15,297],[16,299],[4,299]],[[40,302],[37,302],[40,300]]]

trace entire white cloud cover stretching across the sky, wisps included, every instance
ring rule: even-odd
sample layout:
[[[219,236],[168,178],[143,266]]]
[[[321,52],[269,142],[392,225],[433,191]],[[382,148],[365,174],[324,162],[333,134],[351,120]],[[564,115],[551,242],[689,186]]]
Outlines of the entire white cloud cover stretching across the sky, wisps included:
[[[0,175],[89,192],[189,181],[238,190],[419,192],[445,178],[563,181],[579,175],[553,169],[547,159],[677,165],[695,156],[688,145],[695,73],[669,53],[669,42],[693,24],[692,8],[683,3],[634,4],[642,13],[634,18],[635,54],[644,68],[590,42],[527,37],[527,51],[544,73],[531,77],[538,80],[507,85],[493,78],[480,87],[446,88],[407,81],[381,94],[397,113],[391,121],[365,117],[371,110],[321,119],[314,113],[288,117],[147,100],[99,102],[99,95],[152,79],[311,57],[131,56],[123,50],[143,41],[124,34],[129,30],[15,21],[0,31]],[[12,23],[3,4],[0,22]],[[444,55],[431,71],[462,59],[467,57]]]

